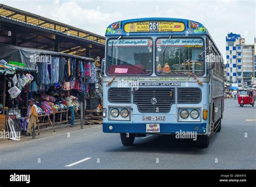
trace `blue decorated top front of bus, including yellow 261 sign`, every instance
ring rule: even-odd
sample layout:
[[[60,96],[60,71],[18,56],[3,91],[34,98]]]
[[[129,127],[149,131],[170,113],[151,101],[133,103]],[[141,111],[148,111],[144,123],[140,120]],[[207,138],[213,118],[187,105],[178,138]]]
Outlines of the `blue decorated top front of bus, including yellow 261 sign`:
[[[120,35],[194,35],[208,34],[199,22],[177,18],[126,19],[112,23],[106,28],[107,36]]]

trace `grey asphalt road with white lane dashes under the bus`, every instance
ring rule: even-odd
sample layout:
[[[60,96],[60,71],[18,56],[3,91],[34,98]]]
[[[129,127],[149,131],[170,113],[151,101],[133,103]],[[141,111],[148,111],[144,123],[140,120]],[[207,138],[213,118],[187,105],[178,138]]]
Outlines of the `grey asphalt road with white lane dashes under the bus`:
[[[125,147],[119,134],[96,125],[0,146],[0,169],[256,169],[255,142],[256,107],[225,99],[221,132],[208,148],[168,135],[136,138]]]

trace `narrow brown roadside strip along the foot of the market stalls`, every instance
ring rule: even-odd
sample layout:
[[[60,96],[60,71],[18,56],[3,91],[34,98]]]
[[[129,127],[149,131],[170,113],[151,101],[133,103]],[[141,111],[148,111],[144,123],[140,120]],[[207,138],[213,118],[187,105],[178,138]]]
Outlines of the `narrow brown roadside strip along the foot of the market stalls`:
[[[83,129],[86,128],[91,128],[91,127],[96,127],[100,125],[84,125]],[[57,126],[56,126],[57,127]],[[22,143],[26,141],[36,141],[37,139],[44,139],[44,138],[49,138],[51,136],[58,136],[58,135],[63,135],[66,133],[70,132],[75,132],[75,131],[80,131],[80,123],[75,124],[73,128],[70,128],[69,125],[68,127],[65,126],[59,126],[59,128],[55,127],[56,133],[53,133],[52,127],[44,129],[45,131],[41,131],[40,135],[36,134],[36,139],[32,139],[32,136],[23,136],[21,140],[15,141],[15,140],[9,140],[9,139],[0,139],[0,148],[5,147],[5,146],[11,146],[11,145],[17,145],[17,143]]]

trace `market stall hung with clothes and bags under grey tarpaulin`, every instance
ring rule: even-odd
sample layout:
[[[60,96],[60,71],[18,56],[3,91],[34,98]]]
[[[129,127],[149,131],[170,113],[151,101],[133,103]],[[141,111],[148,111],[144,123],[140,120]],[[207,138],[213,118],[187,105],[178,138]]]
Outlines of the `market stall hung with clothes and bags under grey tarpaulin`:
[[[77,118],[84,119],[88,103],[86,99],[97,98],[98,104],[101,103],[102,77],[95,60],[31,48],[10,45],[4,47],[3,44],[0,49],[8,51],[6,55],[0,56],[0,59],[3,58],[0,73],[4,76],[1,79],[3,89],[0,91],[3,97],[0,112],[14,121],[15,131],[26,134],[26,127],[22,124],[25,120],[22,121],[22,117],[26,116],[30,98],[35,99],[38,109],[38,132],[40,126],[69,123],[69,109],[65,103],[64,91],[69,90],[71,95],[78,98],[73,103]]]

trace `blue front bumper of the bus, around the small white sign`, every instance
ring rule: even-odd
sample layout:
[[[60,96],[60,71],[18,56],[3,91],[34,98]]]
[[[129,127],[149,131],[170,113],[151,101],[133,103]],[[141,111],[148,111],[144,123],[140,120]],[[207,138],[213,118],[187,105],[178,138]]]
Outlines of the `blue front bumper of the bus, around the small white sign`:
[[[134,133],[151,134],[146,132],[146,124],[150,123],[103,123],[104,133]],[[151,123],[152,124],[152,123]],[[206,123],[157,123],[160,132],[155,134],[175,134],[176,132],[197,132],[206,134]]]

